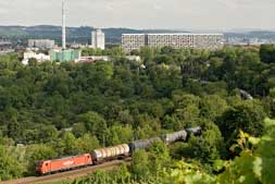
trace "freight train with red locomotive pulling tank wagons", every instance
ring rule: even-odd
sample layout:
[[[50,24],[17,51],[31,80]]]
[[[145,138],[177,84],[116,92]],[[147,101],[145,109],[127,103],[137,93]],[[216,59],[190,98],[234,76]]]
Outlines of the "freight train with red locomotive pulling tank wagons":
[[[100,148],[91,151],[90,154],[83,154],[78,156],[72,157],[63,157],[53,160],[41,160],[37,162],[36,172],[39,175],[45,174],[52,174],[55,172],[74,170],[78,168],[100,164],[107,161],[115,160],[115,159],[123,159],[130,157],[135,150],[138,149],[148,149],[152,143],[154,142],[163,142],[166,145],[170,145],[175,142],[184,142],[190,135],[200,135],[201,127],[192,127],[183,130],[179,132],[165,134],[162,136],[143,139],[143,140],[136,140],[129,144],[123,144],[107,148]]]

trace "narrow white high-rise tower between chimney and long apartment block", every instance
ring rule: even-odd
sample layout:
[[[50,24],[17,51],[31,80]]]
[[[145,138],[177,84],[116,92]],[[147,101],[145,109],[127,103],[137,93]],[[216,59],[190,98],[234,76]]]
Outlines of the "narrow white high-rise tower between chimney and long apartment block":
[[[105,34],[101,29],[91,32],[91,48],[105,49]]]

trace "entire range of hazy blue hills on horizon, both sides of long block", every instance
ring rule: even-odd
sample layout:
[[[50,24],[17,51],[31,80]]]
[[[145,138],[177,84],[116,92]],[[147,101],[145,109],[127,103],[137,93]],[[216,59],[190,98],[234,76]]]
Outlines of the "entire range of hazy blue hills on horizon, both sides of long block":
[[[14,41],[27,42],[29,38],[49,38],[54,39],[61,44],[61,26],[52,25],[37,25],[37,26],[0,26],[0,39],[8,38]],[[67,40],[70,42],[90,44],[90,34],[93,27],[67,27]],[[188,33],[186,30],[173,29],[132,29],[132,28],[103,28],[105,33],[107,44],[121,44],[122,34],[140,34],[140,33]],[[201,30],[203,32],[203,30]],[[271,30],[232,30],[224,33],[225,38],[239,37],[252,38],[258,37],[262,39],[274,39],[275,32]]]

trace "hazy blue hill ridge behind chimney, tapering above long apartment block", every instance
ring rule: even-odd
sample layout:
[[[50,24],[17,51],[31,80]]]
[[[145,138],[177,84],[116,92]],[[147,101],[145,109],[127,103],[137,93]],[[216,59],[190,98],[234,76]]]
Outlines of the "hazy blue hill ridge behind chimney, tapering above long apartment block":
[[[0,26],[0,38],[9,38],[12,40],[21,39],[25,41],[28,38],[49,38],[61,42],[61,26],[38,25],[38,26]],[[67,27],[67,40],[73,42],[90,42],[90,34],[93,27]],[[105,39],[108,44],[120,44],[122,34],[138,33],[179,33],[179,30],[171,29],[130,29],[130,28],[104,28]]]

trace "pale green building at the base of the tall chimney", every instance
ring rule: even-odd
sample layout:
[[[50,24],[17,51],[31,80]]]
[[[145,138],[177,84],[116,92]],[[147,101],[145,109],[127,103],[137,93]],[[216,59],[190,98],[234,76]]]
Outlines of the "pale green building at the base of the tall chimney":
[[[68,62],[68,61],[77,61],[82,57],[80,50],[50,50],[50,59],[51,61],[59,61],[59,62]]]

